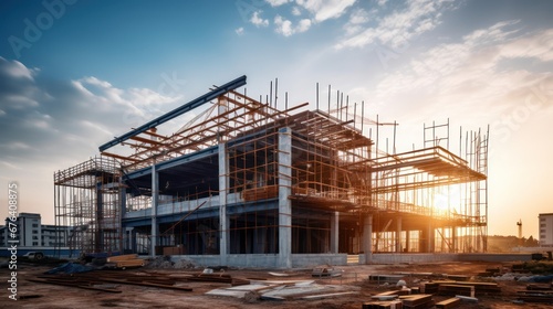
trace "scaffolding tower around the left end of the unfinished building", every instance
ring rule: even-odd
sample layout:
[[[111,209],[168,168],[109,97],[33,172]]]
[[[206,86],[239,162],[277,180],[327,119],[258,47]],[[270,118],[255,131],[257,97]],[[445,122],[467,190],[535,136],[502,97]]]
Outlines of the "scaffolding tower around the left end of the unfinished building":
[[[112,158],[96,157],[54,173],[55,225],[59,233],[69,227],[70,256],[122,251],[121,187]]]

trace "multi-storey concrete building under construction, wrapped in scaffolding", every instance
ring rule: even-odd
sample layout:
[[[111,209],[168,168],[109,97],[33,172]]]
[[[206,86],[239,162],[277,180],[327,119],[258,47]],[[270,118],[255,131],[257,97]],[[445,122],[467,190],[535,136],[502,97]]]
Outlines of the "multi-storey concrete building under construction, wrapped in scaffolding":
[[[379,127],[397,124],[369,120],[330,87],[309,110],[288,94],[276,104],[276,84],[264,99],[243,85],[215,87],[55,172],[67,245],[261,267],[486,252],[488,132],[461,134],[453,154],[449,122],[432,124],[421,149],[396,153],[378,143]]]

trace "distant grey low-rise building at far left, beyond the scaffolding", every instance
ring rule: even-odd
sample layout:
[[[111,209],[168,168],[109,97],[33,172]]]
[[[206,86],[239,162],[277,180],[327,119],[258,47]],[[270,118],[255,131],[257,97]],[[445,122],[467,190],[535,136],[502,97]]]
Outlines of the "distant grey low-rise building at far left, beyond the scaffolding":
[[[0,246],[9,245],[10,220],[6,219],[6,225],[0,226]],[[18,231],[15,238],[19,239],[19,247],[64,247],[67,243],[67,231],[70,227],[41,224],[41,216],[38,213],[20,213],[17,221]],[[56,233],[59,228],[59,233]]]

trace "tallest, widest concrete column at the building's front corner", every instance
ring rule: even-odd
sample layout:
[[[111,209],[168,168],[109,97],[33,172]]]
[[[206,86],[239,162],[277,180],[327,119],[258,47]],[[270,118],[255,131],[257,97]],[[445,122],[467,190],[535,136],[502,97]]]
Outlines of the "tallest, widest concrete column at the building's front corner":
[[[292,130],[279,129],[279,267],[292,267]]]

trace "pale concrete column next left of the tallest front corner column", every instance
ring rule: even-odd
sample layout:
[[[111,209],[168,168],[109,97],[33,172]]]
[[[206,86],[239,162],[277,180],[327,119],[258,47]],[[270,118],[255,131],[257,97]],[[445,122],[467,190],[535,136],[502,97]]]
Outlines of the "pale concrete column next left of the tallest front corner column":
[[[227,265],[227,255],[229,253],[229,220],[227,216],[228,162],[227,145],[219,143],[219,256],[223,266]]]

